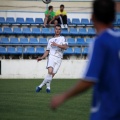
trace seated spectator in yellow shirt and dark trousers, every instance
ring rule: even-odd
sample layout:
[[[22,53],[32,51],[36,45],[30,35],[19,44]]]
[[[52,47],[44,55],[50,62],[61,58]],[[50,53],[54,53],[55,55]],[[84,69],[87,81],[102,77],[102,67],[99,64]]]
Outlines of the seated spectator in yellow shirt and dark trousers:
[[[64,5],[60,5],[60,10],[56,11],[56,20],[61,24],[61,28],[67,28],[67,12],[64,10]]]

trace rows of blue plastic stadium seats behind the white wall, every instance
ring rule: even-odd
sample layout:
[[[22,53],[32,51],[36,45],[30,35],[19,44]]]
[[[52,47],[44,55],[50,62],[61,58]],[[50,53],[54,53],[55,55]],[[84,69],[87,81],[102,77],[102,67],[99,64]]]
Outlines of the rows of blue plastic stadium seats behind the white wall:
[[[68,29],[62,29],[61,35],[66,37],[69,48],[67,55],[87,56],[88,46],[96,35],[91,19],[68,18]],[[0,56],[42,55],[49,39],[54,35],[54,28],[42,28],[42,18],[0,17]],[[120,31],[120,19],[113,23]],[[8,57],[6,57],[8,58]],[[29,57],[27,57],[29,58]]]

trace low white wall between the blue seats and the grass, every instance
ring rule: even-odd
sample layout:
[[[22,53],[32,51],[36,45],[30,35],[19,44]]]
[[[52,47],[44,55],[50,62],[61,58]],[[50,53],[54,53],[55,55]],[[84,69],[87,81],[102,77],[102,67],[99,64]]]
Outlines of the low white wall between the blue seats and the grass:
[[[55,78],[80,78],[84,73],[86,60],[63,60]],[[0,78],[44,78],[47,61],[1,60]]]

